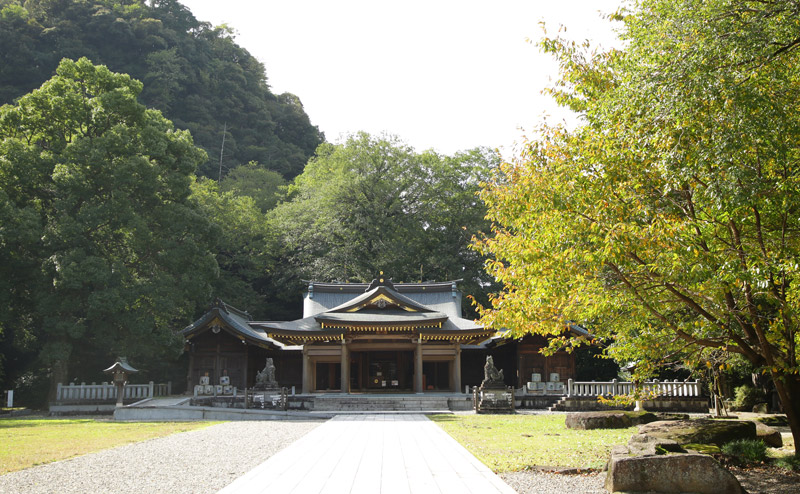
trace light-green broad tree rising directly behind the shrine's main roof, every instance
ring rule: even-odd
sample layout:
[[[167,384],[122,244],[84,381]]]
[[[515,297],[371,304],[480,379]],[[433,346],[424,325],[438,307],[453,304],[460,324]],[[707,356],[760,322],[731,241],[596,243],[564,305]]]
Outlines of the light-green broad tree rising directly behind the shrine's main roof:
[[[270,213],[297,276],[369,281],[464,279],[480,293],[483,259],[468,248],[485,225],[475,192],[496,155],[416,153],[395,137],[323,144]]]

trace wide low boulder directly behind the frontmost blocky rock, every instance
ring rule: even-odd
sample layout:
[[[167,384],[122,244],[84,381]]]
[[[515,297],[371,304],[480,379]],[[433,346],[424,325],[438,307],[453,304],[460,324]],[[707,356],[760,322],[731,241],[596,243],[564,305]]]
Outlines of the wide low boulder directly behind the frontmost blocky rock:
[[[681,445],[713,443],[721,446],[736,439],[755,439],[756,425],[747,420],[657,421],[640,425],[639,434],[672,439]]]

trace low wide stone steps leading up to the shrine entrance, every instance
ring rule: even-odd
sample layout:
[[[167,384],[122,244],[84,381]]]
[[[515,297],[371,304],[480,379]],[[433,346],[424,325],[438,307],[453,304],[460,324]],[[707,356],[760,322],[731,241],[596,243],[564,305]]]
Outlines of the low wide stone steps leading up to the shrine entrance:
[[[315,395],[315,412],[450,412],[471,410],[472,397],[458,393]]]

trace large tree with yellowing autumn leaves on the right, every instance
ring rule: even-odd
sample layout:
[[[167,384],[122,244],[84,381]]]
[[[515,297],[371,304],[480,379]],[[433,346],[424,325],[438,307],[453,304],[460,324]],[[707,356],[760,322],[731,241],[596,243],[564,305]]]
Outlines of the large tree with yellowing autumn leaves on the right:
[[[486,324],[579,321],[621,361],[771,375],[800,441],[800,3],[645,0],[625,48],[541,46],[574,131],[544,126],[482,197],[505,285]]]

